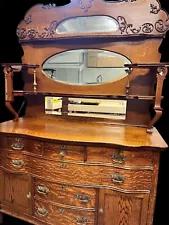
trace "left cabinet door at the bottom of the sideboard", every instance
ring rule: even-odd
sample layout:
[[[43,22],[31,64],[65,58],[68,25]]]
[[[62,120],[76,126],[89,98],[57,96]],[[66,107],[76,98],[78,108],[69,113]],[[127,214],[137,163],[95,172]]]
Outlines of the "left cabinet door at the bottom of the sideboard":
[[[3,172],[2,206],[15,212],[31,213],[31,177]]]

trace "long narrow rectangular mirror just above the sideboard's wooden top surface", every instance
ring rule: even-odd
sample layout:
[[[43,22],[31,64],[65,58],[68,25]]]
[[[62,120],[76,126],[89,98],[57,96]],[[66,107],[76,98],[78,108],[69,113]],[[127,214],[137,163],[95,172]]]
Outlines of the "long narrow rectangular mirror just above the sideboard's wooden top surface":
[[[107,118],[114,120],[126,119],[126,100],[68,98],[68,106],[63,107],[62,97],[45,97],[45,113],[62,115],[66,108],[68,116]],[[65,113],[65,112],[64,112]]]

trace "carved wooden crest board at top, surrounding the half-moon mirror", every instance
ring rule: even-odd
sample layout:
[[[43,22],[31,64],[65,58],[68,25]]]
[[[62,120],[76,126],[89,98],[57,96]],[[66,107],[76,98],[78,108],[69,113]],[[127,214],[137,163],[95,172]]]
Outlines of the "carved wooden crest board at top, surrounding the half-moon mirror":
[[[156,10],[153,6],[156,6]],[[130,11],[132,14],[128,13]],[[107,15],[115,19],[119,26],[118,31],[82,34],[57,34],[55,32],[58,25],[67,19],[94,15]],[[39,23],[42,25],[39,26]],[[156,0],[136,0],[125,3],[124,1],[72,0],[70,4],[63,7],[57,7],[54,4],[35,5],[26,13],[24,20],[18,26],[17,33],[22,42],[95,37],[96,34],[98,37],[119,38],[143,35],[148,38],[163,36],[168,28],[167,25],[167,14]]]

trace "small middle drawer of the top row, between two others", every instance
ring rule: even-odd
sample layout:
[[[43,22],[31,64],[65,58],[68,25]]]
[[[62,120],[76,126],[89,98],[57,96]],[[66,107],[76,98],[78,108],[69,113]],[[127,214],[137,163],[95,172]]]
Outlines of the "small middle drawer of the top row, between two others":
[[[84,146],[45,143],[44,156],[56,160],[72,160],[84,162]]]

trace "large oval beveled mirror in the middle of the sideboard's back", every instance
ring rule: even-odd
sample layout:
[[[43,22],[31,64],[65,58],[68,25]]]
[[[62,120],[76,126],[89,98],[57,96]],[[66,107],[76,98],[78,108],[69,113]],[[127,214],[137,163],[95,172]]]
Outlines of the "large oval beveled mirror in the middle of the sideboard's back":
[[[124,64],[131,61],[118,53],[100,49],[76,49],[48,58],[43,73],[54,81],[73,85],[99,85],[126,77]]]

